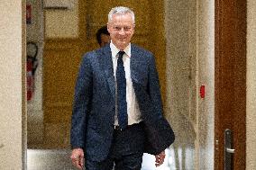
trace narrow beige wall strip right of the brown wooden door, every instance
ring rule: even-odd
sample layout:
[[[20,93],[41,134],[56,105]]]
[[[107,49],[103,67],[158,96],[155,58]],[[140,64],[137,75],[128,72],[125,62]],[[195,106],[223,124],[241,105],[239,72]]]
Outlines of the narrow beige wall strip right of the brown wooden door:
[[[256,168],[256,1],[248,0],[246,169]]]

